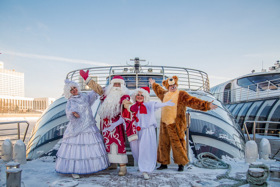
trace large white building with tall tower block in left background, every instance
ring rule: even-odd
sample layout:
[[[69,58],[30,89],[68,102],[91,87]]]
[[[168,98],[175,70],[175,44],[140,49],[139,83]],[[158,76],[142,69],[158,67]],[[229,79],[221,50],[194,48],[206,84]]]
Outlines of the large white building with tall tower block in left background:
[[[56,100],[24,97],[24,73],[4,69],[3,62],[0,62],[0,88],[1,113],[43,111]]]

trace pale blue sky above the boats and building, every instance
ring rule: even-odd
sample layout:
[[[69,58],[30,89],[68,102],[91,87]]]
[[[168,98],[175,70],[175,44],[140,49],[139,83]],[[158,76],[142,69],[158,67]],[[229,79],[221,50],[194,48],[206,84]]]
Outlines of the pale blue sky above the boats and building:
[[[279,0],[0,0],[0,61],[26,97],[58,98],[76,69],[126,64],[197,69],[210,86],[280,60]]]

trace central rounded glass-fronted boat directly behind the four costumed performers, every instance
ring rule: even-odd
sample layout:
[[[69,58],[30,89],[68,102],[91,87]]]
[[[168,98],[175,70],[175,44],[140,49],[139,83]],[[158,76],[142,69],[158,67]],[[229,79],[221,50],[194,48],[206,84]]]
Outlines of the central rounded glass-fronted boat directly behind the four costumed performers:
[[[205,72],[183,67],[150,66],[149,63],[142,66],[140,65],[139,61],[141,60],[139,60],[139,58],[133,60],[134,65],[92,67],[83,70],[89,70],[89,76],[101,86],[110,84],[110,80],[115,75],[121,75],[124,78],[125,85],[131,93],[136,88],[149,86],[151,89],[151,101],[157,102],[161,101],[152,91],[152,87],[149,85],[149,78],[155,79],[156,83],[161,85],[162,81],[166,78],[177,75],[179,78],[179,90],[184,90],[191,96],[196,96],[202,100],[214,100],[213,103],[219,106],[216,110],[208,112],[187,108],[186,114],[190,114],[190,116],[187,116],[188,118],[190,117],[190,125],[186,131],[186,135],[188,135],[186,138],[189,142],[189,144],[187,144],[189,154],[194,154],[194,156],[196,156],[203,152],[210,152],[219,158],[221,158],[222,155],[244,158],[244,134],[227,107],[215,99],[210,93],[209,79]],[[87,93],[91,90],[87,85],[84,85],[84,80],[79,75],[79,70],[69,72],[66,78],[80,83],[82,92]],[[63,137],[64,130],[69,122],[65,114],[66,102],[67,100],[64,96],[61,96],[40,116],[27,144],[27,159],[36,159],[38,157],[56,154],[56,150],[53,149],[53,147],[56,147],[58,141]],[[100,117],[97,114],[99,107],[100,101],[97,99],[92,106],[92,112],[97,121],[97,127],[100,128]],[[157,140],[159,138],[160,116],[161,110],[159,109],[156,111],[158,124],[156,128]],[[217,129],[220,131],[218,132]],[[55,136],[56,130],[59,131],[59,136]],[[128,155],[127,165],[137,166],[127,139],[126,151]]]

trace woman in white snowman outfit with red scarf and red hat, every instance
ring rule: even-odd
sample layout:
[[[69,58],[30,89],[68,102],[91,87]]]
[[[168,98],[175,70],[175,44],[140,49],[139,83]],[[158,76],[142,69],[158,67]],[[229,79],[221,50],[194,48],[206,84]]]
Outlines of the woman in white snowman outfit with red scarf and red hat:
[[[144,179],[149,179],[148,173],[151,173],[157,164],[157,120],[155,111],[161,107],[174,106],[171,100],[166,103],[150,101],[149,87],[136,88],[131,95],[132,102],[139,102],[139,111],[134,113],[135,125],[138,140],[130,142],[131,152],[134,160],[138,163],[139,171],[143,173]],[[110,123],[110,127],[104,130],[113,130],[121,124],[123,118],[115,123]],[[103,131],[104,131],[103,130]]]

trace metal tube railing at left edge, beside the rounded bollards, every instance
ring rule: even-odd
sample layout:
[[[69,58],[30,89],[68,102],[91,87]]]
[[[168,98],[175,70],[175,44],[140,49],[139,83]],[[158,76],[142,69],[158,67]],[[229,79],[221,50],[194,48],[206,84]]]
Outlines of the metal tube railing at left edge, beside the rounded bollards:
[[[20,123],[26,123],[27,124],[27,126],[25,128],[25,133],[24,133],[23,138],[22,138],[22,141],[24,142],[25,141],[25,137],[26,137],[26,133],[27,133],[27,130],[28,130],[28,127],[29,127],[29,122],[28,121],[0,122],[0,125],[1,125],[1,128],[0,128],[0,131],[1,131],[1,134],[0,134],[0,137],[1,137],[0,138],[0,142],[1,142],[0,147],[2,146],[2,142],[5,141],[5,139],[7,139],[7,137],[10,137],[9,139],[11,141],[19,140],[20,139],[20,128],[19,128],[20,127],[20,125],[19,125]],[[17,124],[17,127],[9,127],[9,128],[5,128],[5,129],[2,128],[2,125],[6,125],[6,124]],[[17,130],[16,131],[17,133],[15,133],[15,130]],[[17,135],[17,136],[15,136],[15,135]],[[1,154],[2,154],[2,152],[1,152]]]

